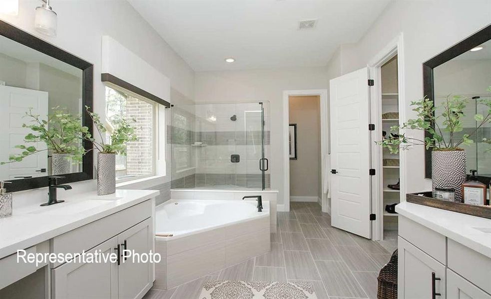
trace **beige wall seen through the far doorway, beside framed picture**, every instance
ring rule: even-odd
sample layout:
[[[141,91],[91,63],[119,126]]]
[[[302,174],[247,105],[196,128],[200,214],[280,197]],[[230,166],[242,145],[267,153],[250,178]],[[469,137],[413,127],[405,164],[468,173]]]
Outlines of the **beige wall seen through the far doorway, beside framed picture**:
[[[320,96],[290,96],[290,124],[297,124],[297,159],[290,160],[290,198],[322,198]]]

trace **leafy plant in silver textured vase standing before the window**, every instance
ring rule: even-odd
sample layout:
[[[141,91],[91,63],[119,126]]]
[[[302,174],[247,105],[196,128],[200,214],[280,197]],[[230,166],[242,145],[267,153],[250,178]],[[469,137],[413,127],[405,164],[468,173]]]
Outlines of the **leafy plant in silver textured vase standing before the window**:
[[[84,138],[91,141],[98,150],[97,153],[97,195],[105,195],[116,192],[116,154],[126,155],[126,143],[137,141],[135,128],[123,117],[116,117],[111,120],[112,132],[109,141],[104,141],[102,133],[106,127],[101,122],[99,115],[90,111],[90,107],[85,106],[88,114],[94,122],[100,141],[95,140],[90,134],[85,134]],[[136,120],[133,120],[136,122]]]

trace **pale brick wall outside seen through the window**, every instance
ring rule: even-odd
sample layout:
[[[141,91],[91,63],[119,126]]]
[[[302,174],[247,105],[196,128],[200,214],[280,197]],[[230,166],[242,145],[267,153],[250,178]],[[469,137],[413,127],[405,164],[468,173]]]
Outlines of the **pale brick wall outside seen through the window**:
[[[126,145],[126,174],[153,173],[153,108],[152,104],[132,96],[126,98],[126,117],[136,127],[138,137],[138,141]]]

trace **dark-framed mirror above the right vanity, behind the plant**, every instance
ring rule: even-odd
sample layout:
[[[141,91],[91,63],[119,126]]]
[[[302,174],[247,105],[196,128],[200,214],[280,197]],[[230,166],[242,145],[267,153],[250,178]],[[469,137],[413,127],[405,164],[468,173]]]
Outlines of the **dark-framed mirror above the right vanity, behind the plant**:
[[[451,48],[423,63],[423,88],[427,98],[433,101],[436,115],[448,95],[464,96],[468,104],[462,119],[464,134],[471,136],[473,145],[463,146],[467,151],[467,168],[477,169],[478,179],[489,184],[491,180],[491,125],[479,127],[474,116],[486,113],[480,100],[491,98],[487,91],[491,86],[491,25],[457,43]],[[426,133],[429,137],[428,133]],[[444,138],[445,138],[444,132]],[[425,152],[425,176],[432,177],[432,149]]]

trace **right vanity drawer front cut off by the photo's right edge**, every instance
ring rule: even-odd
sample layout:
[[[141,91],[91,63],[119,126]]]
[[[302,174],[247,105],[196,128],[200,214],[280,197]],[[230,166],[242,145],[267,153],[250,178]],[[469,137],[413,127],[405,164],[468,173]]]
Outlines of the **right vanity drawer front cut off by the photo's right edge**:
[[[491,259],[448,239],[449,268],[491,294]]]

